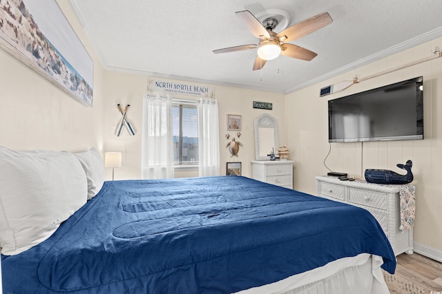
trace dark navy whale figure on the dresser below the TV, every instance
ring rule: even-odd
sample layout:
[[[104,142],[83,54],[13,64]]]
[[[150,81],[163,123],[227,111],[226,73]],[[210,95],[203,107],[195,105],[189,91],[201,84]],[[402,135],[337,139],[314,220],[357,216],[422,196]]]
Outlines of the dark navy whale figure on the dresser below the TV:
[[[405,165],[401,165],[400,163],[396,165],[400,169],[405,169],[405,171],[407,171],[406,175],[397,174],[387,169],[365,169],[365,180],[374,184],[408,184],[413,181],[412,165],[412,160],[407,160]]]

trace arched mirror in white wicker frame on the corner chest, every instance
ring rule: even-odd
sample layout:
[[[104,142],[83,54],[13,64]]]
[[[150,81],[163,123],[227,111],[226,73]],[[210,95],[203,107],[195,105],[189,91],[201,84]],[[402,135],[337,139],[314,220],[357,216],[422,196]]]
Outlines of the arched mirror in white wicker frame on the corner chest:
[[[261,114],[254,121],[255,158],[270,160],[272,151],[278,150],[278,120],[270,114]]]

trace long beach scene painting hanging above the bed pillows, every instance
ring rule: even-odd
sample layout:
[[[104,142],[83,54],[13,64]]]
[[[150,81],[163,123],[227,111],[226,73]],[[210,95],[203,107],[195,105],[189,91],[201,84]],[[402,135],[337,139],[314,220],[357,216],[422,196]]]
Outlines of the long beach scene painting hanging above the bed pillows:
[[[0,48],[93,105],[93,60],[55,0],[0,1]]]

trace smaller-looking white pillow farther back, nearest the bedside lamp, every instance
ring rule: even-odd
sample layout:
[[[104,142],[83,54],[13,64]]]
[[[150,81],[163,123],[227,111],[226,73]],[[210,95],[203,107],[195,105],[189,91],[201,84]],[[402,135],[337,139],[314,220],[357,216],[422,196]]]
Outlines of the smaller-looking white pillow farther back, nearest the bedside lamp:
[[[86,151],[74,153],[75,157],[81,162],[81,166],[88,179],[88,200],[92,199],[104,183],[104,161],[99,152],[94,148]]]

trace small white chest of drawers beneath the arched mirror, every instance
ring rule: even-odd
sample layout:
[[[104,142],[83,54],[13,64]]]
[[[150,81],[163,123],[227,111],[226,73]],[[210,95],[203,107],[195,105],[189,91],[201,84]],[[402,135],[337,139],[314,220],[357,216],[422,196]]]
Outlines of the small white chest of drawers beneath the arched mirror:
[[[293,189],[293,161],[252,160],[251,177],[261,182]]]

